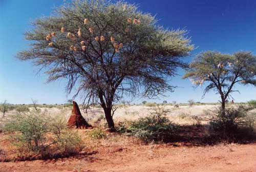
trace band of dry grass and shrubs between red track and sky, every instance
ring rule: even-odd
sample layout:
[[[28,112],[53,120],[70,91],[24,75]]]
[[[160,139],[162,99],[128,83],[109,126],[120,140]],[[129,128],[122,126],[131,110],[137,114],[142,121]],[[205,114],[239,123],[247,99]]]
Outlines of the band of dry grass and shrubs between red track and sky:
[[[137,138],[144,144],[194,142],[183,140],[183,128],[194,127],[202,130],[208,138],[207,142],[198,142],[201,145],[221,142],[245,142],[255,138],[256,111],[255,101],[248,103],[228,104],[226,118],[221,116],[221,107],[218,103],[174,105],[145,104],[118,106],[116,131],[120,137]],[[67,105],[38,105],[37,110],[32,105],[10,105],[5,117],[1,118],[0,130],[8,142],[12,143],[15,155],[5,157],[1,161],[48,159],[69,157],[89,151],[91,145],[88,140],[110,139],[108,125],[100,107],[93,106],[89,114],[83,116],[93,124],[92,129],[81,131],[67,127],[67,119],[71,113],[71,106]],[[24,109],[24,111],[21,111]],[[138,111],[130,112],[133,109]],[[146,110],[146,112],[145,112]],[[199,114],[197,114],[199,111]],[[142,113],[144,112],[144,113]],[[118,115],[120,114],[120,116]],[[198,128],[198,129],[196,129]],[[206,134],[207,133],[207,134]],[[202,139],[201,138],[201,139]],[[2,150],[2,157],[4,152]]]

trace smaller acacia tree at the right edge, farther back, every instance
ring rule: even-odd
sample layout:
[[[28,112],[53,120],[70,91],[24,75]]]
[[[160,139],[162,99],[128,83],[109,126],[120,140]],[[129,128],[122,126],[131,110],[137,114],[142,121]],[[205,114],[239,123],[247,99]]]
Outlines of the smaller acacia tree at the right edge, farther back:
[[[189,67],[183,78],[190,78],[196,87],[206,85],[203,97],[210,90],[220,94],[223,117],[230,93],[238,92],[233,90],[235,84],[256,86],[256,56],[250,52],[229,55],[207,51],[199,54]]]

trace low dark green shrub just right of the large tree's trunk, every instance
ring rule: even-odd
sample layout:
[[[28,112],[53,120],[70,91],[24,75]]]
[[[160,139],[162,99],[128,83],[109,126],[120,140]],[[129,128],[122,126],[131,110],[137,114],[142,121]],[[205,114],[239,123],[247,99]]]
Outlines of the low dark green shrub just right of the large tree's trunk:
[[[167,113],[163,107],[156,107],[147,117],[131,122],[127,132],[146,141],[169,141],[178,126],[166,117]]]

